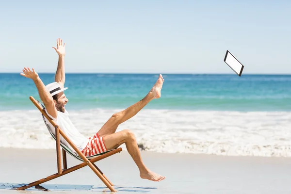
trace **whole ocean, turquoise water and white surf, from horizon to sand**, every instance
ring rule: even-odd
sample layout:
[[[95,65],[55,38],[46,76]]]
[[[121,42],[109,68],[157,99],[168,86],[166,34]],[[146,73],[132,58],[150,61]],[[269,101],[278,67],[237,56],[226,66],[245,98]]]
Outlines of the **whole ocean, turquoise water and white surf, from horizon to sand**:
[[[162,97],[117,129],[131,129],[146,151],[291,156],[291,75],[162,75]],[[66,110],[91,136],[145,97],[158,76],[66,74]],[[40,100],[31,79],[0,74],[0,147],[55,148],[30,96]]]

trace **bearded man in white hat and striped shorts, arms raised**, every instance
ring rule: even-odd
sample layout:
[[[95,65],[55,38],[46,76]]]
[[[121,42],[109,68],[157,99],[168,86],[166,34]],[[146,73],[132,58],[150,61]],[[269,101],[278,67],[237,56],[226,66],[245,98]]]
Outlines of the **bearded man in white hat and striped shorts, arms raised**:
[[[65,104],[68,99],[65,97],[65,44],[63,40],[57,40],[57,47],[53,47],[59,55],[58,67],[55,74],[55,82],[47,86],[39,78],[38,74],[28,67],[24,68],[20,75],[31,78],[38,90],[39,96],[46,107],[48,115],[60,126],[69,139],[81,150],[85,156],[91,156],[97,153],[104,152],[110,149],[116,149],[122,144],[126,144],[127,150],[136,163],[140,171],[140,177],[152,181],[161,181],[165,177],[150,171],[142,161],[139,148],[134,134],[126,129],[115,132],[118,125],[127,121],[129,118],[137,114],[151,100],[161,97],[163,77],[160,74],[157,82],[154,84],[149,93],[142,100],[133,104],[129,108],[114,113],[111,118],[102,126],[102,128],[93,136],[85,138],[72,124],[68,117],[68,112],[65,110]],[[47,122],[49,123],[49,122]],[[61,138],[61,142],[69,146],[65,139]]]

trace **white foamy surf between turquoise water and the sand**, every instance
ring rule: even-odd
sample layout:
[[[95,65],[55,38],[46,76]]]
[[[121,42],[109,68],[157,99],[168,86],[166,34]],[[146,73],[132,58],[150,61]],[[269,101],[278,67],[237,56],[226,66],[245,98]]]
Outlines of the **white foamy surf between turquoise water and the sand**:
[[[115,112],[70,111],[86,137]],[[291,112],[226,112],[143,109],[116,131],[130,129],[146,151],[227,156],[291,156]],[[0,147],[54,149],[37,110],[0,112]],[[125,145],[122,145],[126,149]]]

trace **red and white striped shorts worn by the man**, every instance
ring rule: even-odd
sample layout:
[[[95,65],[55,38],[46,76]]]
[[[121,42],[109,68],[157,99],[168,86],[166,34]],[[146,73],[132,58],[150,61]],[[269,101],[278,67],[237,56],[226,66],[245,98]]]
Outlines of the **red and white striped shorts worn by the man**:
[[[98,133],[92,137],[89,137],[87,146],[81,151],[86,157],[93,156],[107,151],[103,137],[100,137]]]

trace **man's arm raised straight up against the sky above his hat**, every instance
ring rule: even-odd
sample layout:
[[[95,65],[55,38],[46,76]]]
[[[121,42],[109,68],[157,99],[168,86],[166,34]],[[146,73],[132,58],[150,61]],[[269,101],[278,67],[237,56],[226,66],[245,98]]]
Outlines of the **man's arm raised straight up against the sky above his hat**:
[[[58,68],[55,75],[55,81],[58,82],[61,88],[65,85],[65,44],[63,46],[63,40],[57,39],[57,47],[52,47],[59,55]]]

